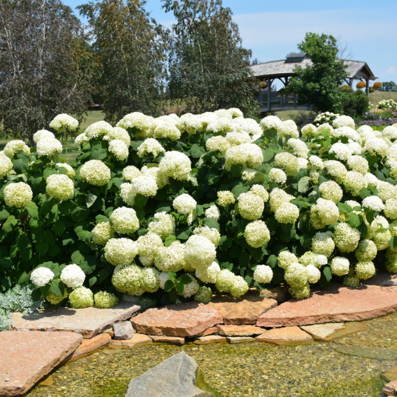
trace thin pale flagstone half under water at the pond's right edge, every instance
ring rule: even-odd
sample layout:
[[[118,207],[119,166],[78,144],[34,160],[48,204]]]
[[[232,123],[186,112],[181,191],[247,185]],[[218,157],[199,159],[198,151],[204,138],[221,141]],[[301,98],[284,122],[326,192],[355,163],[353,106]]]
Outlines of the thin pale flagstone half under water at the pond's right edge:
[[[331,340],[340,338],[352,333],[364,331],[366,329],[365,323],[351,322],[351,323],[326,323],[314,324],[312,326],[301,326],[301,329],[309,332],[314,339],[317,340]]]

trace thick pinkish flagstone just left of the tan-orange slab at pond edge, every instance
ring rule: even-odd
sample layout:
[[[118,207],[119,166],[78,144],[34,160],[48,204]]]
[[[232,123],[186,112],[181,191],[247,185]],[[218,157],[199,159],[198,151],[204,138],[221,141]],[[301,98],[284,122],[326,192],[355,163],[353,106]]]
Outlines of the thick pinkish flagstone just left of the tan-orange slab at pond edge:
[[[199,335],[222,321],[212,306],[197,302],[151,308],[131,319],[139,333],[182,337]]]

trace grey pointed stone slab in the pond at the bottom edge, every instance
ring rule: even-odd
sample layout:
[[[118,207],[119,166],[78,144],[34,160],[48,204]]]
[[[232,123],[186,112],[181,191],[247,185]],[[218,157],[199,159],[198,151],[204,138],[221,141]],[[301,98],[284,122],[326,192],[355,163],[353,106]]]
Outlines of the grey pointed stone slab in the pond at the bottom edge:
[[[184,351],[130,381],[126,397],[211,397],[195,386],[198,365]]]

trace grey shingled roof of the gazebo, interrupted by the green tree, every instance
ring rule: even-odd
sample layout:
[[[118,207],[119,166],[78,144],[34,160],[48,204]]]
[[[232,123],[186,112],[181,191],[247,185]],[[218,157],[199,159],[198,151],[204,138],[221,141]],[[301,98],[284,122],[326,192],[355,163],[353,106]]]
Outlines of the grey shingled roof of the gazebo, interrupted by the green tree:
[[[298,54],[290,54],[290,55],[297,56]],[[354,78],[354,79],[368,78],[370,80],[375,80],[377,78],[374,76],[374,73],[366,64],[366,62],[350,61],[350,60],[344,60],[343,62],[347,66],[346,71],[348,78]],[[291,61],[287,61],[286,59],[282,59],[279,61],[264,62],[262,64],[257,64],[250,67],[255,77],[277,78],[277,77],[295,76],[296,73],[294,73],[293,71],[295,66],[306,67],[311,64],[312,61],[310,59],[302,58],[300,62],[291,62]]]

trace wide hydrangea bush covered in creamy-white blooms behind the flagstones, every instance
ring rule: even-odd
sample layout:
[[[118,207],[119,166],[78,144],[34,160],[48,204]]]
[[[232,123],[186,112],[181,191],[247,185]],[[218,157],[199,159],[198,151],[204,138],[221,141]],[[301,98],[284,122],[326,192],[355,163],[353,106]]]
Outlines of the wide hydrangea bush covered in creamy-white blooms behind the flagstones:
[[[397,128],[328,116],[298,131],[238,109],[135,112],[77,135],[70,164],[56,138],[77,129],[65,115],[34,148],[8,142],[2,289],[32,282],[75,308],[152,306],[281,283],[306,298],[313,284],[397,272]]]

